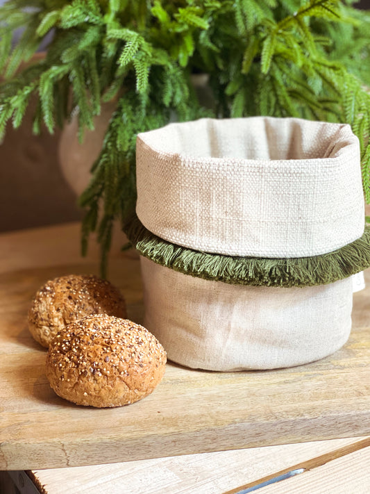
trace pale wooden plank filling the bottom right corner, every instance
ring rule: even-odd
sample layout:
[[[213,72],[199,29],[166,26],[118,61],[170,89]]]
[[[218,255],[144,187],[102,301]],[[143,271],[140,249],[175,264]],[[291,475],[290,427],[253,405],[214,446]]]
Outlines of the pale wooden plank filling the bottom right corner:
[[[370,447],[258,489],[258,494],[369,494]]]

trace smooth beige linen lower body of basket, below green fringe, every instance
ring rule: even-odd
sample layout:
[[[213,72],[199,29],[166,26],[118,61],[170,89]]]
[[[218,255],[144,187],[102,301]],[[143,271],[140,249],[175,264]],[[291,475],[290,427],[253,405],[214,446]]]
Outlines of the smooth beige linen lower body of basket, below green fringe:
[[[351,277],[325,286],[228,285],[140,256],[144,326],[171,361],[191,368],[272,369],[321,359],[351,331]]]

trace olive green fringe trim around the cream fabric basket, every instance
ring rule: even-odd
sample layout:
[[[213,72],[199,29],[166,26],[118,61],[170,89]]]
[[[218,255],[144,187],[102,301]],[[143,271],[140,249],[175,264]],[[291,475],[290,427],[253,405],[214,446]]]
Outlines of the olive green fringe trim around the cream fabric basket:
[[[133,247],[144,257],[172,270],[233,285],[315,286],[334,283],[370,266],[370,227],[355,242],[328,254],[300,258],[235,257],[207,254],[162,240],[137,216],[124,225]]]

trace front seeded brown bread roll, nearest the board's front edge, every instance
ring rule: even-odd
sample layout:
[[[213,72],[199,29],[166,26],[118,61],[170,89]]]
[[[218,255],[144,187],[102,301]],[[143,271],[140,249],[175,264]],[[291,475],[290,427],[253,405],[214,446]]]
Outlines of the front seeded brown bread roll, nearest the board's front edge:
[[[147,329],[111,315],[90,315],[62,329],[49,346],[46,374],[65,400],[121,406],[149,395],[165,373],[166,352]]]

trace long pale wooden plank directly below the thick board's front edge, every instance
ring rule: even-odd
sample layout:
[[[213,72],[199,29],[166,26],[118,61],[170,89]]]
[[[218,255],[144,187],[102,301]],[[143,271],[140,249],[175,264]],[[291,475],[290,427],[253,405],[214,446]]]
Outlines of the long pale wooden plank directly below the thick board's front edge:
[[[34,470],[31,478],[48,494],[221,494],[279,470],[289,470],[294,462],[314,461],[317,456],[355,448],[358,443],[359,438],[333,439],[110,465]]]

